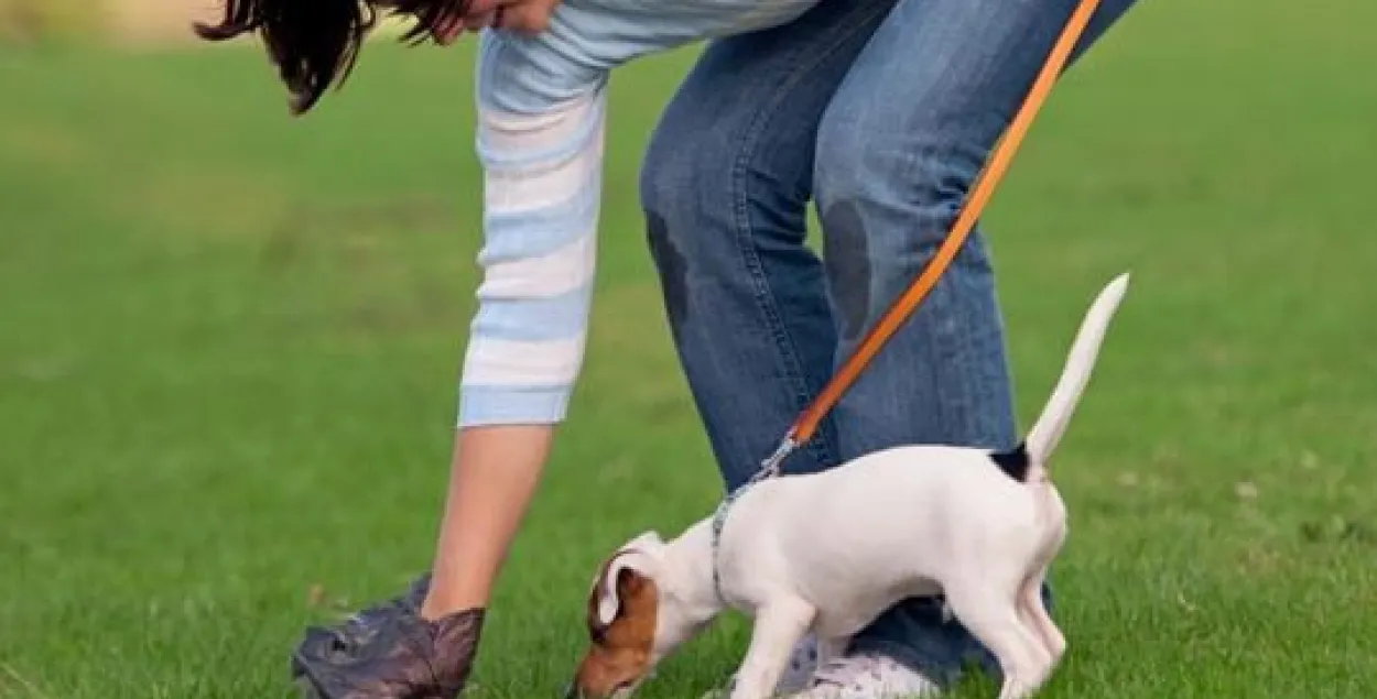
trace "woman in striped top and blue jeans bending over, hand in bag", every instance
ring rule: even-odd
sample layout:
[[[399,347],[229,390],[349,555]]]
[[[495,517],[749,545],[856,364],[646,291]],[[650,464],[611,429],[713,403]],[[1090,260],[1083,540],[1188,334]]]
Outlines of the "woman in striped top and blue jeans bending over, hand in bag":
[[[315,693],[353,699],[453,696],[467,680],[582,359],[611,67],[731,36],[666,110],[642,194],[675,344],[734,487],[931,256],[1075,0],[375,4],[417,17],[439,43],[465,28],[527,33],[482,34],[485,279],[432,577],[344,625],[310,629],[293,655]],[[1081,50],[1129,4],[1103,0]],[[202,36],[262,30],[300,113],[347,72],[364,26],[354,0],[244,0]],[[744,33],[767,26],[777,28]],[[803,244],[810,197],[825,264]],[[1012,446],[1002,343],[974,235],[785,468],[817,471],[896,443]],[[806,687],[790,678],[782,689],[912,696],[947,684],[969,656],[990,662],[931,600],[914,600],[837,665],[801,673]]]

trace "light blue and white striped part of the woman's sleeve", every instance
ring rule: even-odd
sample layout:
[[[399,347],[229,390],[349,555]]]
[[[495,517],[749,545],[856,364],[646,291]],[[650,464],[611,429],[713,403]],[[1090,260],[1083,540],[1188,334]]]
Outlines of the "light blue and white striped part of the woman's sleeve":
[[[493,61],[493,55],[485,59]],[[492,76],[489,76],[492,77]],[[479,80],[482,282],[460,385],[460,427],[565,418],[582,366],[602,187],[603,84],[512,109]]]

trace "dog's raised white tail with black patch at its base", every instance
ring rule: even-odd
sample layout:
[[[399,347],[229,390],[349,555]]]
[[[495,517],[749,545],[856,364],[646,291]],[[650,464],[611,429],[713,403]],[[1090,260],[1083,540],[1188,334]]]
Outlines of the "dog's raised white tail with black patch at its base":
[[[1095,370],[1095,361],[1104,341],[1104,332],[1108,330],[1114,311],[1118,310],[1124,293],[1128,292],[1128,272],[1114,278],[1091,304],[1085,321],[1071,344],[1071,352],[1062,369],[1062,377],[1056,381],[1052,398],[1048,399],[1042,414],[1029,432],[1027,439],[1012,453],[994,454],[994,461],[1007,473],[1018,480],[1026,480],[1029,469],[1045,469],[1048,458],[1056,449],[1058,442],[1066,432],[1066,425],[1075,413],[1075,406],[1081,400],[1085,384],[1091,381]]]

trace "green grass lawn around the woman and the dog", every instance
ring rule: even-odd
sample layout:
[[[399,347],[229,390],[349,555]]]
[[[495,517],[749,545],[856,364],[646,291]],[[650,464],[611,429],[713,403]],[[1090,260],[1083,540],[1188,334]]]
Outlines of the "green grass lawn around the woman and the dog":
[[[1147,1],[996,197],[1024,420],[1135,271],[1056,466],[1048,698],[1370,696],[1374,19]],[[428,560],[478,242],[468,59],[375,47],[293,122],[256,52],[0,55],[0,698],[286,696],[303,623]],[[556,692],[602,555],[717,497],[631,194],[690,59],[613,88],[585,378],[475,698]],[[697,696],[745,637],[644,695]]]

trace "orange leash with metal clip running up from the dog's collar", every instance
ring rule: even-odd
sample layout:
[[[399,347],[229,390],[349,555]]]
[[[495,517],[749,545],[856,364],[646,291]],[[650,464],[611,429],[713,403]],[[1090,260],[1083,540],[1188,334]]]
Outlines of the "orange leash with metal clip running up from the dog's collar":
[[[822,388],[818,398],[812,400],[811,405],[799,416],[799,418],[785,433],[784,440],[774,454],[770,455],[763,464],[756,477],[752,480],[759,480],[761,477],[770,477],[779,473],[779,465],[784,460],[793,453],[799,444],[807,443],[812,439],[814,432],[818,429],[818,424],[822,422],[823,416],[837,405],[841,395],[851,388],[861,372],[865,370],[866,365],[874,358],[885,341],[903,325],[903,321],[913,314],[913,311],[923,303],[923,299],[932,290],[938,283],[938,278],[942,272],[952,264],[956,259],[957,252],[961,245],[965,244],[967,237],[971,234],[971,228],[975,222],[980,217],[980,211],[990,201],[990,195],[994,194],[994,187],[1000,183],[1000,178],[1009,168],[1009,161],[1013,160],[1013,153],[1019,149],[1023,142],[1023,136],[1027,135],[1029,127],[1033,124],[1033,117],[1037,116],[1038,109],[1047,102],[1047,96],[1052,92],[1052,85],[1056,83],[1058,76],[1066,66],[1067,59],[1071,55],[1071,50],[1075,48],[1077,40],[1085,32],[1085,26],[1091,21],[1091,15],[1095,14],[1095,8],[1099,6],[1099,0],[1081,0],[1075,10],[1071,12],[1071,18],[1067,21],[1066,28],[1062,29],[1062,34],[1058,37],[1056,44],[1052,45],[1052,52],[1048,55],[1047,62],[1042,65],[1042,70],[1038,73],[1037,80],[1033,81],[1033,88],[1029,91],[1019,107],[1019,111],[1013,116],[1013,121],[1009,128],[1004,132],[1000,143],[994,147],[990,158],[986,161],[985,168],[982,168],[979,178],[976,179],[975,187],[971,189],[969,197],[967,198],[965,206],[961,213],[957,215],[956,223],[952,224],[952,233],[947,234],[946,239],[942,241],[942,246],[938,248],[936,255],[932,260],[923,268],[918,278],[909,285],[909,289],[903,292],[899,299],[894,301],[880,322],[865,336],[861,344],[856,347],[855,352],[847,359],[841,369],[828,381],[828,385]]]

